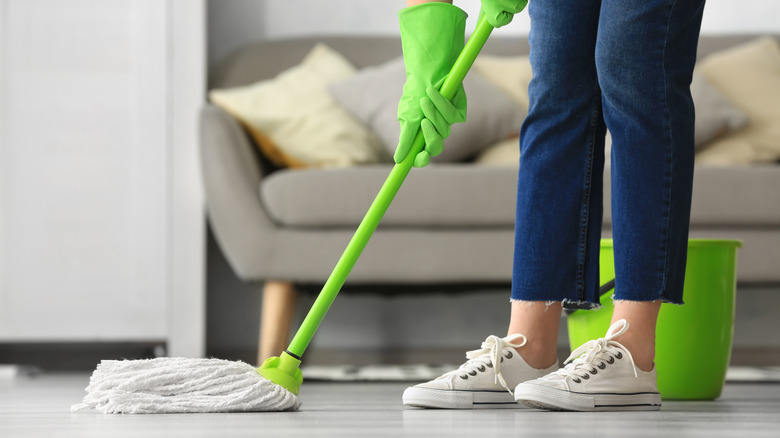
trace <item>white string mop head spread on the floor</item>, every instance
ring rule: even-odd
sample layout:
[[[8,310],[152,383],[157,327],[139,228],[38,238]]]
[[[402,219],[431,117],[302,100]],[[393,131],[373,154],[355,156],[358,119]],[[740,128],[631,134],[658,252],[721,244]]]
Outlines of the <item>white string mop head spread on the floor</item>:
[[[288,411],[298,396],[244,362],[157,358],[104,360],[92,373],[84,402],[104,414]]]

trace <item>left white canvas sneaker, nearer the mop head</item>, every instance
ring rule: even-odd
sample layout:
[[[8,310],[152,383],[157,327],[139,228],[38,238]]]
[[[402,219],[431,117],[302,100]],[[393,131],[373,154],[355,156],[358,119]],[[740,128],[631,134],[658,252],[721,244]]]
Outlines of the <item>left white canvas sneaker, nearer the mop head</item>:
[[[522,342],[512,343],[518,339]],[[489,336],[481,349],[466,353],[468,361],[457,370],[406,388],[404,405],[446,409],[521,408],[511,388],[558,369],[557,363],[544,370],[528,365],[515,350],[526,342],[526,337],[520,334],[503,339]]]

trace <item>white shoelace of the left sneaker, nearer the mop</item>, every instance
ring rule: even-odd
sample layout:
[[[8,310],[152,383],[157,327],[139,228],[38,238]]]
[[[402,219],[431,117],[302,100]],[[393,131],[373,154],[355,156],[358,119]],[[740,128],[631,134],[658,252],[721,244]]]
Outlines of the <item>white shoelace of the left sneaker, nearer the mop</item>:
[[[519,344],[514,343],[518,339],[522,339],[522,342]],[[495,335],[488,336],[478,350],[472,350],[466,353],[466,359],[468,359],[468,361],[458,367],[457,370],[451,371],[442,377],[458,375],[461,379],[467,379],[469,375],[476,376],[478,372],[484,372],[487,368],[493,368],[493,372],[495,373],[493,382],[500,384],[507,391],[513,393],[513,390],[507,385],[503,374],[501,374],[501,364],[503,363],[504,358],[510,359],[512,355],[517,354],[517,352],[508,352],[505,354],[504,350],[509,348],[520,348],[524,346],[526,342],[528,342],[528,339],[521,334],[510,335],[505,338],[499,338]]]

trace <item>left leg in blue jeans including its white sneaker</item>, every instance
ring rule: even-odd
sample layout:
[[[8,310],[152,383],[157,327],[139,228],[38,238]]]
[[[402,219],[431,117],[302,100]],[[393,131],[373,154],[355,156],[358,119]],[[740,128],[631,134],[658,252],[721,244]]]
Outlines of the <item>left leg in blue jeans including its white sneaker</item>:
[[[488,337],[458,369],[407,388],[407,406],[520,407],[516,385],[558,369],[561,302],[594,299],[605,133],[593,59],[598,1],[528,9],[534,79],[521,131],[509,335]]]

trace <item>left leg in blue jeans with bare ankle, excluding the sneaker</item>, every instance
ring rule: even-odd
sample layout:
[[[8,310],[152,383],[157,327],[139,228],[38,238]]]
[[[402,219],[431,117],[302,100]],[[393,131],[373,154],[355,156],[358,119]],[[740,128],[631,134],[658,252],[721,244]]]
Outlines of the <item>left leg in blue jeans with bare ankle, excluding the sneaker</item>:
[[[605,125],[598,1],[530,2],[534,77],[520,131],[508,332],[531,366],[556,363],[561,303],[598,303]],[[551,304],[552,303],[552,304]]]

